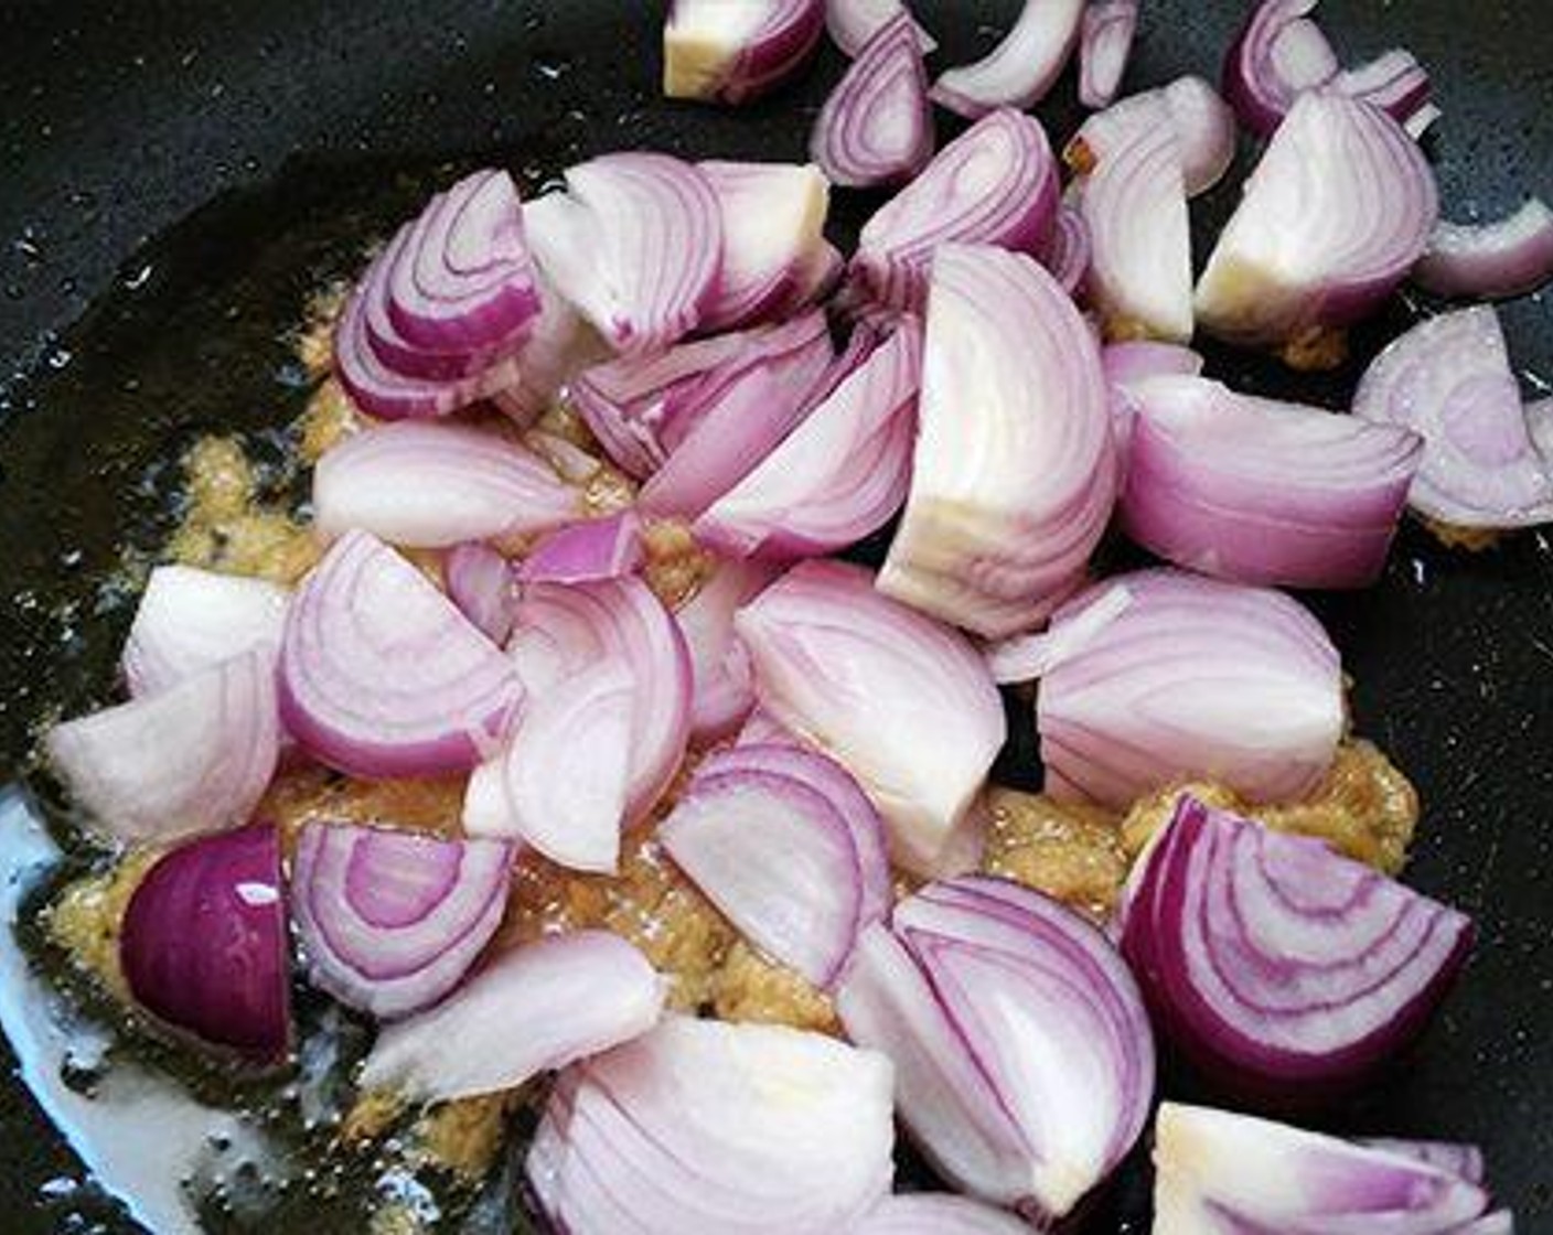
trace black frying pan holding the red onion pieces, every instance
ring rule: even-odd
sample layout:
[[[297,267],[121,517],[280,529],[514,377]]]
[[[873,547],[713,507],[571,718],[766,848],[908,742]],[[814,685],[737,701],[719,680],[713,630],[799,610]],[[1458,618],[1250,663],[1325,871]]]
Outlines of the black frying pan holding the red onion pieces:
[[[1146,0],[1129,82],[1216,75],[1244,6]],[[954,61],[1017,3],[918,9]],[[1435,70],[1449,208],[1553,194],[1545,0],[1328,0],[1322,19],[1353,56],[1405,42]],[[22,374],[0,402],[0,783],[42,710],[107,690],[127,614],[101,581],[124,544],[165,534],[165,460],[200,432],[258,432],[300,405],[276,382],[275,332],[320,275],[349,269],[363,235],[472,162],[537,188],[621,146],[800,158],[840,67],[828,51],[753,109],[666,104],[658,6],[637,0],[9,0],[0,20],[0,359]],[[1065,135],[1072,85],[1041,113]],[[839,239],[860,213],[837,211]],[[1553,377],[1548,306],[1505,315],[1519,365]],[[1399,304],[1367,329],[1356,362],[1407,318]],[[1210,371],[1337,405],[1357,370],[1297,381],[1210,350]],[[1477,1140],[1519,1229],[1553,1230],[1553,541],[1460,556],[1409,530],[1379,590],[1317,604],[1357,679],[1359,729],[1423,794],[1410,878],[1480,926],[1416,1056],[1329,1125]],[[1034,775],[1028,749],[1027,733],[1002,774]],[[102,1207],[42,1188],[61,1178],[79,1178],[71,1153],[8,1083],[0,1229],[84,1230],[68,1212]],[[1143,1229],[1145,1198],[1135,1168],[1096,1229]]]

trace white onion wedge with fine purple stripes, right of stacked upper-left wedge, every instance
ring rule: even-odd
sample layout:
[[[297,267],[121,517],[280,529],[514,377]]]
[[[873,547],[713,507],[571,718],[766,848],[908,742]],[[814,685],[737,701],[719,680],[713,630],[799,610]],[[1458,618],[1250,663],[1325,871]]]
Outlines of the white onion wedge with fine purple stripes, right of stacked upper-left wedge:
[[[666,154],[606,154],[523,211],[540,269],[610,346],[644,356],[700,323],[722,269],[717,194]]]

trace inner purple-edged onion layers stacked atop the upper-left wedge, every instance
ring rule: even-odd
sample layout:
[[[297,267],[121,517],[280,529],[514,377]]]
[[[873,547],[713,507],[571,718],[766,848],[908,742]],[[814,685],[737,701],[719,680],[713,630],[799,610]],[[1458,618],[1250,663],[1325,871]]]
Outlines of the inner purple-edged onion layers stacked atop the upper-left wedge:
[[[412,346],[433,353],[522,342],[539,290],[511,176],[477,171],[433,199],[391,266],[387,311]]]

